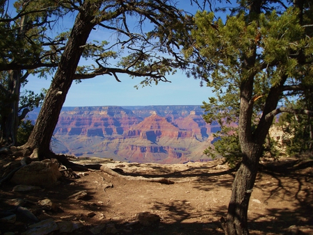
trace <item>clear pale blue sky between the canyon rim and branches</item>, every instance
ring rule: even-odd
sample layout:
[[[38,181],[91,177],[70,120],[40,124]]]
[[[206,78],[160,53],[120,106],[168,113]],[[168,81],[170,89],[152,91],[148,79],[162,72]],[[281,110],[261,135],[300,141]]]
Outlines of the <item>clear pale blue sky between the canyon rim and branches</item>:
[[[190,1],[179,1],[180,8],[195,11]],[[69,28],[74,17],[67,19]],[[97,35],[100,36],[101,35]],[[212,96],[206,86],[200,87],[200,81],[188,79],[183,72],[167,76],[172,83],[160,82],[157,86],[134,88],[140,83],[140,77],[131,79],[125,74],[118,75],[121,83],[113,76],[97,76],[94,79],[83,80],[81,83],[72,83],[63,106],[147,106],[147,105],[202,105]],[[51,79],[29,78],[26,90],[40,92],[42,88],[49,88]]]

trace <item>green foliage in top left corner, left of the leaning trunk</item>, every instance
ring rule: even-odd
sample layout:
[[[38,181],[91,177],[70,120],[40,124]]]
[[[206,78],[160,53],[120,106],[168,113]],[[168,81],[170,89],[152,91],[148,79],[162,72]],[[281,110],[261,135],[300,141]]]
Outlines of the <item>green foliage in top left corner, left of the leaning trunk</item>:
[[[43,44],[53,41],[48,36],[52,23],[48,18],[56,13],[53,1],[16,1],[14,6],[17,13],[0,20],[0,64],[47,62],[50,58]]]

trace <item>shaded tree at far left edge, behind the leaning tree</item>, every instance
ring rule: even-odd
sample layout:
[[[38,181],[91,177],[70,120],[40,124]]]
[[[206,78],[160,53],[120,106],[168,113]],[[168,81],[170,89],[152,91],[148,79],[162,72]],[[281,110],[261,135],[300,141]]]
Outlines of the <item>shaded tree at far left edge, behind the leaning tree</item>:
[[[49,1],[1,1],[0,72],[1,72],[1,143],[17,144],[17,127],[34,106],[41,104],[43,93],[20,89],[30,74],[47,77],[58,64],[51,60],[60,51],[60,40],[49,36],[58,15]],[[16,12],[14,12],[14,10]],[[49,30],[50,29],[50,30]]]

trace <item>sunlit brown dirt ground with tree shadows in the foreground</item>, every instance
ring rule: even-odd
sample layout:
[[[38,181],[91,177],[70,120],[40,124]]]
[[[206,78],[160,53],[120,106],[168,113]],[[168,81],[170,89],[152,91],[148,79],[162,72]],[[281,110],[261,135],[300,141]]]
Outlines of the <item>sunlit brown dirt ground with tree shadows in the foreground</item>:
[[[279,169],[291,161],[294,159],[264,164]],[[61,177],[57,186],[27,193],[13,192],[13,184],[3,184],[0,209],[8,209],[3,202],[10,199],[26,199],[25,207],[40,220],[71,221],[80,227],[67,234],[223,234],[219,220],[227,213],[234,172],[220,159],[176,165],[110,159],[80,159],[79,163],[120,169],[121,175],[134,179],[165,177],[174,184],[126,179],[102,170],[75,171]],[[70,197],[81,191],[87,195]],[[38,206],[36,202],[45,198],[56,209]],[[250,234],[313,234],[312,202],[312,167],[291,172],[260,170],[248,210]],[[141,220],[141,215],[146,215],[146,220]],[[0,234],[21,234],[32,223],[17,214],[14,224],[0,223]]]

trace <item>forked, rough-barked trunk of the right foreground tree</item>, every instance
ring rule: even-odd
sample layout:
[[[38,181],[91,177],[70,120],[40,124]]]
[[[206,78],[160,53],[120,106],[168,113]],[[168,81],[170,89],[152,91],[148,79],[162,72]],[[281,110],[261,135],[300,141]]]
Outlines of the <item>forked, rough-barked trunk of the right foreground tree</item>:
[[[243,159],[232,185],[232,197],[228,206],[227,218],[221,221],[227,235],[249,234],[248,205],[250,195],[257,177],[259,158],[263,154],[264,141],[273,123],[273,116],[266,118],[266,115],[275,110],[286,79],[287,76],[283,76],[278,86],[271,88],[268,93],[262,117],[255,131],[252,131],[252,105],[255,99],[252,97],[252,76],[242,83],[239,141]]]

